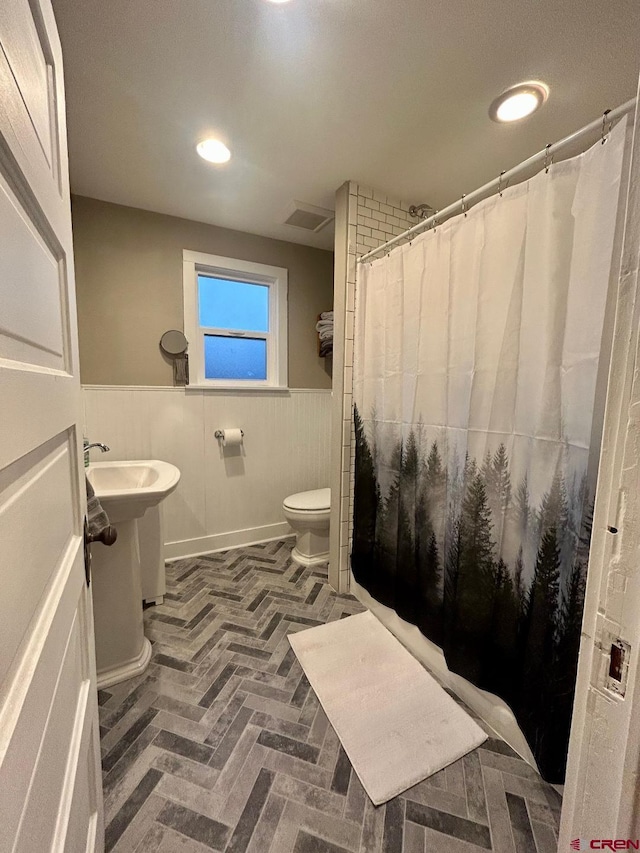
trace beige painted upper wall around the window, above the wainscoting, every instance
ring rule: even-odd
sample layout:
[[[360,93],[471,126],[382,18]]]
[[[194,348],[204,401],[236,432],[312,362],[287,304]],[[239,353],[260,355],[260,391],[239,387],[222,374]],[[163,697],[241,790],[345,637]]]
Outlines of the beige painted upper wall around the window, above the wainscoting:
[[[158,347],[183,329],[182,250],[286,267],[289,386],[331,387],[315,324],[333,305],[333,253],[74,196],[80,375],[87,385],[172,385]]]

